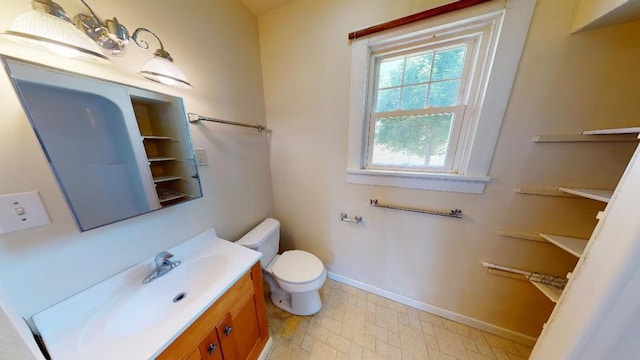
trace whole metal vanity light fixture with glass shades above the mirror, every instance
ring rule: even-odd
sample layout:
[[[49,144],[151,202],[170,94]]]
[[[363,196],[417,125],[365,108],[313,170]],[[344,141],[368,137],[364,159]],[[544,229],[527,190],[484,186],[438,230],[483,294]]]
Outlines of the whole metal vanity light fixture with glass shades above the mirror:
[[[138,28],[129,36],[129,31],[118,19],[114,17],[102,22],[84,0],[80,1],[90,14],[78,14],[71,21],[64,9],[52,0],[32,0],[33,10],[17,17],[11,29],[4,34],[18,40],[35,42],[65,56],[89,56],[108,60],[103,52],[111,56],[122,56],[126,53],[130,40],[138,47],[148,49],[149,44],[138,39],[141,32],[148,32],[158,40],[160,49],[154,52],[154,58],[139,73],[149,80],[163,84],[193,88],[173,63],[173,58],[155,33]]]

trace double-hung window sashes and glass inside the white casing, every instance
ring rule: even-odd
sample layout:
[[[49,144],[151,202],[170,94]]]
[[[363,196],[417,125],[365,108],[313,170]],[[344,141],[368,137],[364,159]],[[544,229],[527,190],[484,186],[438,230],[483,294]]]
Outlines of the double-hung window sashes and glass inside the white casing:
[[[366,168],[454,169],[474,43],[373,56]]]

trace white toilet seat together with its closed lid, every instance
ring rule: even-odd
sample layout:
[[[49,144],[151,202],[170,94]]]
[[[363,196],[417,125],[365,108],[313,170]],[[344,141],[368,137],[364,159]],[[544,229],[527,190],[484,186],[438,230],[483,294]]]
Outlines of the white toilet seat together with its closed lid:
[[[285,251],[269,265],[280,287],[288,292],[317,290],[327,278],[322,261],[302,250]]]

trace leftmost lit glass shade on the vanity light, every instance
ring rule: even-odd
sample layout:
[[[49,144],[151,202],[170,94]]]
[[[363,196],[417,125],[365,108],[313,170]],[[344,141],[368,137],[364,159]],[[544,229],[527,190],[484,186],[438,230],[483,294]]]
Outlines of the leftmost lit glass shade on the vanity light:
[[[108,60],[100,47],[70,22],[31,10],[18,16],[11,30],[4,33],[15,40],[28,42],[67,57]]]

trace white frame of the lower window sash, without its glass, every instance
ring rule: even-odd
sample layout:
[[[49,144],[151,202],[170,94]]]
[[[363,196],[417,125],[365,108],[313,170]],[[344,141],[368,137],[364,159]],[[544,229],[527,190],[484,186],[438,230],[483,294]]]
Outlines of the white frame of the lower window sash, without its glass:
[[[442,108],[427,108],[422,110],[409,110],[409,111],[391,111],[372,113],[369,115],[368,126],[368,141],[367,141],[367,155],[365,168],[371,170],[390,170],[390,171],[409,171],[409,172],[441,172],[441,173],[455,173],[455,160],[457,155],[457,148],[460,140],[460,132],[462,129],[462,119],[464,118],[464,112],[466,106],[449,106]],[[421,115],[438,115],[438,114],[453,114],[451,123],[451,130],[449,131],[449,139],[447,145],[447,153],[443,166],[419,166],[419,165],[403,165],[403,166],[384,166],[373,164],[373,150],[375,144],[375,127],[379,119],[390,117],[404,117],[404,116],[421,116]]]

